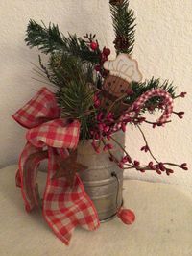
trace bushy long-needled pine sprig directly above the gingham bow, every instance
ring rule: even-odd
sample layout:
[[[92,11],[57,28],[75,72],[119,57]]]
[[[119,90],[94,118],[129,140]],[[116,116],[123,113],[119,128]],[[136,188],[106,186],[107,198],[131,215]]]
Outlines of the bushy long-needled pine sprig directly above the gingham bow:
[[[96,110],[93,96],[96,80],[90,64],[82,64],[79,58],[66,54],[52,54],[48,67],[39,58],[39,64],[47,78],[57,87],[56,97],[61,116],[78,119],[81,123],[81,139],[90,138],[90,127],[94,125]]]

